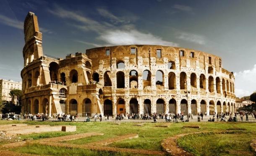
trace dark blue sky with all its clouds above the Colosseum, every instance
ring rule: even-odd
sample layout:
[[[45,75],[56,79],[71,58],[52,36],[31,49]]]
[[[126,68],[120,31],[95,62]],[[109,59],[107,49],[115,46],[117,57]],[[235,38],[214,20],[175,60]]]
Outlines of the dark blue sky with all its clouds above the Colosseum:
[[[255,91],[255,0],[1,0],[0,78],[20,81],[23,22],[39,19],[44,54],[104,45],[159,44],[222,57],[237,96]]]

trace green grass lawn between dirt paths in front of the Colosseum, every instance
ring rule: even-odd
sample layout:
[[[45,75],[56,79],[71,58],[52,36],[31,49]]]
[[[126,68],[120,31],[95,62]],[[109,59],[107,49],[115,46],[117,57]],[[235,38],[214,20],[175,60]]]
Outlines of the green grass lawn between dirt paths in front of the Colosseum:
[[[135,148],[135,149],[149,149],[154,151],[163,151],[161,147],[161,141],[165,138],[175,136],[179,133],[193,133],[202,132],[207,133],[191,134],[183,136],[178,139],[178,144],[186,151],[193,153],[194,155],[204,156],[235,156],[235,155],[255,155],[250,149],[250,141],[256,138],[256,123],[172,123],[168,128],[155,127],[157,124],[163,123],[144,123],[144,126],[133,126],[135,123],[121,123],[115,125],[113,123],[100,123],[100,122],[37,122],[37,121],[0,121],[0,124],[10,123],[27,123],[27,124],[47,124],[47,125],[75,125],[77,127],[76,132],[49,132],[40,134],[31,134],[20,136],[21,139],[41,139],[51,138],[57,136],[71,135],[75,133],[86,132],[99,132],[104,133],[103,136],[91,136],[88,138],[81,138],[72,141],[63,141],[65,143],[72,144],[86,144],[95,141],[105,140],[107,138],[113,138],[129,133],[137,133],[138,138],[123,140],[107,145],[109,147],[118,148]],[[200,129],[194,128],[182,128],[188,125],[199,125]],[[232,133],[218,133],[220,131],[233,130]],[[216,133],[215,133],[216,132]],[[63,148],[63,147],[51,147],[38,144],[32,144],[28,146],[18,147],[11,149],[20,153],[31,153],[39,155],[134,155],[129,153],[109,153],[106,151],[91,151],[79,148]]]

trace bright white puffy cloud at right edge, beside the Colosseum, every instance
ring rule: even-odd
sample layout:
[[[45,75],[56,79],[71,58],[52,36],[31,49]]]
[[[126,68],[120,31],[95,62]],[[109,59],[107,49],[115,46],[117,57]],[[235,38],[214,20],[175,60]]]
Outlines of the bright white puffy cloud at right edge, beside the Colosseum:
[[[250,70],[243,70],[235,75],[235,95],[237,97],[250,96],[256,91],[256,64]]]

